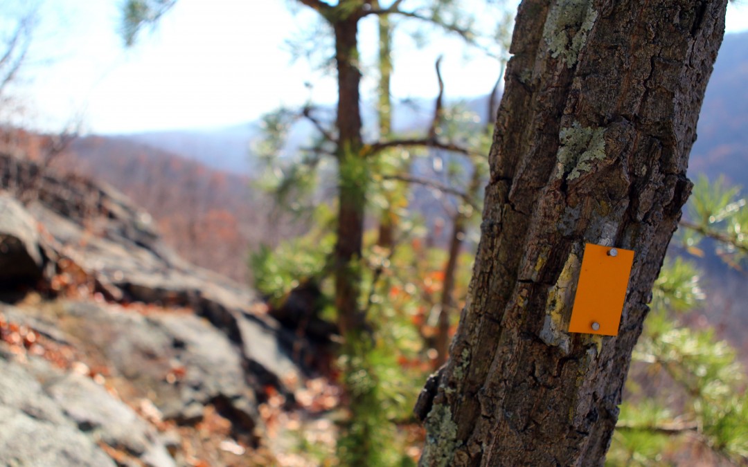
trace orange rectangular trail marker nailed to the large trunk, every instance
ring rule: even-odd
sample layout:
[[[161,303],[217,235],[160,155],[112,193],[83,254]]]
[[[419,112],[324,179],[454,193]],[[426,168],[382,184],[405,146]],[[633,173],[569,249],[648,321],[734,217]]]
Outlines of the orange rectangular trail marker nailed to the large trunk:
[[[586,244],[569,333],[618,335],[634,250]]]

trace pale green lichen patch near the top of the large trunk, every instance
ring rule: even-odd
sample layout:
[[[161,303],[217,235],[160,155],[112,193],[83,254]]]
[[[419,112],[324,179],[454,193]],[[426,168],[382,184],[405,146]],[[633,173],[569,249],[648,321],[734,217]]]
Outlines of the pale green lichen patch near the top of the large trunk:
[[[577,63],[587,34],[595,25],[598,12],[591,0],[558,0],[551,6],[543,28],[543,39],[553,58],[561,58],[571,68]]]

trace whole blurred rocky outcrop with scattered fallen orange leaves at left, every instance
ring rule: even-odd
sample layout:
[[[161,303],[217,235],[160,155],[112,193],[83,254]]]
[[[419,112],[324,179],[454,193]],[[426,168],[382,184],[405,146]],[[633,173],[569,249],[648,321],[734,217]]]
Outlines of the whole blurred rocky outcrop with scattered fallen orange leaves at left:
[[[2,154],[0,181],[0,282],[37,284],[0,303],[0,464],[186,463],[201,441],[184,430],[208,418],[233,446],[206,448],[211,465],[260,448],[266,388],[292,403],[310,374],[304,337],[113,189]]]

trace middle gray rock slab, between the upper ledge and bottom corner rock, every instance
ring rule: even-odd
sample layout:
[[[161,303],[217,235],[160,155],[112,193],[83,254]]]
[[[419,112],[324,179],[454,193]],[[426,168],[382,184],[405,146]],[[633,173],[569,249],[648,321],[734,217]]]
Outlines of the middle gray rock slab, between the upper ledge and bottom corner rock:
[[[246,430],[259,422],[244,356],[206,319],[186,313],[143,316],[120,306],[65,302],[67,329],[153,399],[165,418],[199,421],[208,403],[227,404]],[[175,368],[184,375],[168,381]]]

